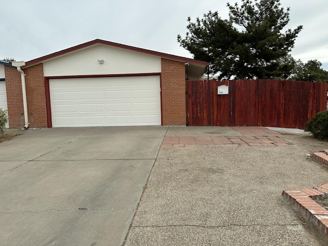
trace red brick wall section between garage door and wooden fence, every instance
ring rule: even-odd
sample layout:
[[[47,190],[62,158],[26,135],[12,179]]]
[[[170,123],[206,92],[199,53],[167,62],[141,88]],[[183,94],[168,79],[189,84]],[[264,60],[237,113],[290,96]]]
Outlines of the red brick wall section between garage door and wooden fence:
[[[186,126],[185,63],[161,59],[162,125]]]

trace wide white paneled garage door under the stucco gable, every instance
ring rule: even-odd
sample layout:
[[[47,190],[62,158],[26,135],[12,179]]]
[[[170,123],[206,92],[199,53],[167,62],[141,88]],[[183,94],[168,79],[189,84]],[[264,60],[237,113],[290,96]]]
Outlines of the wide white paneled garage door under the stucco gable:
[[[161,125],[159,76],[49,79],[53,127]]]

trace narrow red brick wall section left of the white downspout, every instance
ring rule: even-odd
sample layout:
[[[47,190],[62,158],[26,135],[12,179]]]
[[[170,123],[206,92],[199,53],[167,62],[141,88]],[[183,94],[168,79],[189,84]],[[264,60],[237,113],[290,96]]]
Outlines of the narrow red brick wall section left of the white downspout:
[[[24,127],[22,81],[16,67],[5,66],[8,119],[10,128]]]

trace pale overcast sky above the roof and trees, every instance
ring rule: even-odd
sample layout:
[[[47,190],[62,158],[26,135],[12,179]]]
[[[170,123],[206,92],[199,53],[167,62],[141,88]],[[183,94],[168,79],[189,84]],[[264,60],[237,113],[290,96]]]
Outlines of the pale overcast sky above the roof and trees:
[[[192,58],[177,43],[188,24],[209,10],[228,18],[229,0],[11,0],[0,5],[0,59],[31,60],[99,38]],[[328,70],[327,0],[281,0],[288,28],[303,25],[292,55]]]

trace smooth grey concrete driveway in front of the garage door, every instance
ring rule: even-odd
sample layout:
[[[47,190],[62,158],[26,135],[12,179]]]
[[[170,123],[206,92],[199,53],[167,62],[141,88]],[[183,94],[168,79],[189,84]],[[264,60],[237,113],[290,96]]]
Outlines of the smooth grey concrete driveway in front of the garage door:
[[[0,244],[121,245],[167,129],[39,129],[1,142]]]

